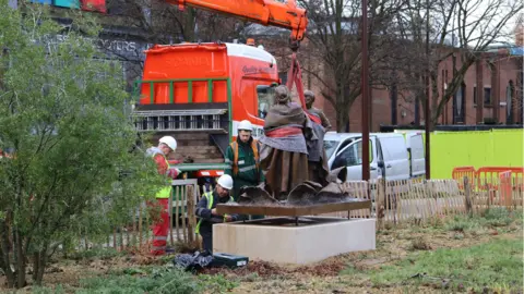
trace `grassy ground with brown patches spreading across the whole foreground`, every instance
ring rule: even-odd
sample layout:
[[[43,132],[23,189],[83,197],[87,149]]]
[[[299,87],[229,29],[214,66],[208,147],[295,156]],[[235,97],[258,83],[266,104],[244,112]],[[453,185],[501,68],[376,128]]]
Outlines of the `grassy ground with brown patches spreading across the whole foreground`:
[[[519,292],[523,284],[522,212],[495,208],[480,216],[438,218],[434,221],[392,226],[378,232],[377,250],[349,255],[348,266],[338,277],[297,275],[259,277],[200,274],[156,266],[117,268],[109,274],[81,281],[81,285],[49,289],[34,293],[263,293],[325,292],[342,293],[378,287],[390,293]],[[507,234],[509,233],[509,234]],[[517,240],[519,238],[519,240]],[[111,258],[111,250],[88,250],[75,258]],[[432,287],[432,289],[431,289]],[[400,291],[400,292],[398,292]],[[358,291],[357,291],[358,292]],[[337,293],[337,292],[333,292]]]

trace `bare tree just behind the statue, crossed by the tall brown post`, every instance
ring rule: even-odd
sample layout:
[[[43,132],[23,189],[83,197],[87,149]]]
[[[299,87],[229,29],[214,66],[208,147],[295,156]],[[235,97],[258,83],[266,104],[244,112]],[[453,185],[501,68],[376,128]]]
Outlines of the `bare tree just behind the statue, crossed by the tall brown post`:
[[[308,54],[320,64],[306,66],[322,85],[322,96],[336,110],[337,131],[349,131],[349,109],[361,91],[361,2],[354,0],[302,0],[310,19]],[[404,9],[404,0],[369,1],[368,47],[370,85],[384,85],[377,71],[393,50],[388,27]],[[303,52],[303,50],[302,50]]]

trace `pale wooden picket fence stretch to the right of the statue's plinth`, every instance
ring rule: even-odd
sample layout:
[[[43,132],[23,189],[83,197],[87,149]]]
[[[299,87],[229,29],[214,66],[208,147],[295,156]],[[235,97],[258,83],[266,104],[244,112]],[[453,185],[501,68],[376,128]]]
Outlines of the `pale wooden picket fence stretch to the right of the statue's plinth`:
[[[377,218],[378,226],[401,223],[425,223],[436,218],[480,213],[488,208],[523,207],[523,177],[491,180],[490,185],[477,185],[464,176],[456,180],[404,180],[374,183],[352,181],[346,191],[356,198],[372,199],[372,209],[341,211],[322,216],[340,218]]]

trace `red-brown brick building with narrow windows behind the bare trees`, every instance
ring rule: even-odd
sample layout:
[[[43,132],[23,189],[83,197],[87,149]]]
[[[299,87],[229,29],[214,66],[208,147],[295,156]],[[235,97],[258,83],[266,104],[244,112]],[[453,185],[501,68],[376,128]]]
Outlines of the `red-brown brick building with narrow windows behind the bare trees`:
[[[522,40],[522,29],[515,30],[516,41]],[[520,35],[519,35],[520,34]],[[286,58],[289,49],[285,44],[275,44],[273,36],[258,36],[270,52],[278,60],[282,77],[285,79],[287,70]],[[272,40],[273,38],[273,40]],[[308,54],[308,41],[302,41],[300,63],[302,68],[313,68],[318,74],[323,69],[318,59]],[[284,46],[284,48],[277,48]],[[519,47],[520,46],[520,47]],[[282,53],[283,51],[287,53]],[[490,65],[488,65],[488,63]],[[461,66],[456,58],[456,68]],[[464,83],[454,97],[448,101],[438,124],[443,125],[475,125],[475,124],[522,124],[523,123],[523,51],[522,44],[515,48],[496,48],[481,54],[481,61],[473,64],[466,72]],[[452,79],[452,57],[440,64],[438,76],[439,96]],[[322,85],[315,77],[305,71],[302,74],[305,88],[317,94],[314,106],[322,108],[333,126],[336,125],[336,112],[332,103],[322,97]],[[483,85],[477,90],[477,85]],[[381,125],[424,125],[424,109],[421,103],[416,103],[409,93],[395,91],[395,89],[370,89],[371,101],[371,131],[378,132]],[[407,97],[407,98],[406,98]],[[418,110],[417,110],[418,106]],[[349,131],[361,131],[361,98],[358,97],[349,111]],[[418,117],[418,120],[417,120]],[[342,128],[344,130],[344,127]]]

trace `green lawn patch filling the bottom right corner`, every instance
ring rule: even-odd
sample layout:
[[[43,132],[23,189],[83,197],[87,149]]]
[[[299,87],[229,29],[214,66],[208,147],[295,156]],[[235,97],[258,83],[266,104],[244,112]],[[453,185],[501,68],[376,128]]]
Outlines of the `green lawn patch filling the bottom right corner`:
[[[523,284],[522,240],[496,240],[481,245],[437,249],[412,254],[391,266],[371,271],[374,285],[432,283],[454,290],[503,285],[519,289]],[[420,274],[421,278],[412,278]],[[448,281],[443,283],[442,281]]]

